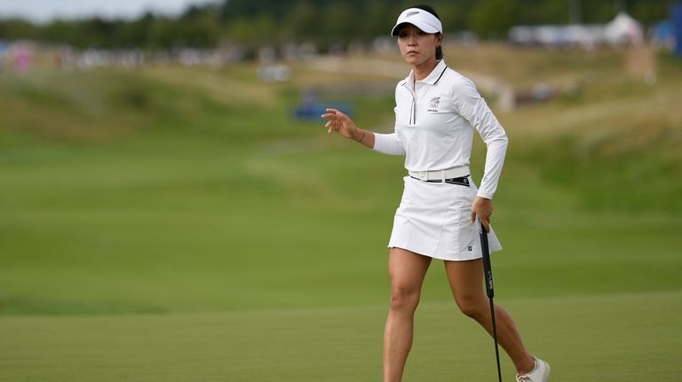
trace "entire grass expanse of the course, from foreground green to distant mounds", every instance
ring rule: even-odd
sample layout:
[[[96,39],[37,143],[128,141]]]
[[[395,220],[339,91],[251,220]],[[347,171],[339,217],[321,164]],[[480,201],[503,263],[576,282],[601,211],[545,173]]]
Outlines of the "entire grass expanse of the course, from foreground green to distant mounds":
[[[557,382],[678,382],[682,66],[662,57],[646,86],[615,51],[448,51],[464,72],[510,63],[519,87],[583,84],[499,114],[496,301],[529,349]],[[256,73],[0,76],[0,382],[380,380],[403,159],[291,106],[313,86],[388,131],[394,81]],[[457,311],[440,261],[422,301],[405,380],[496,380],[492,339]]]

